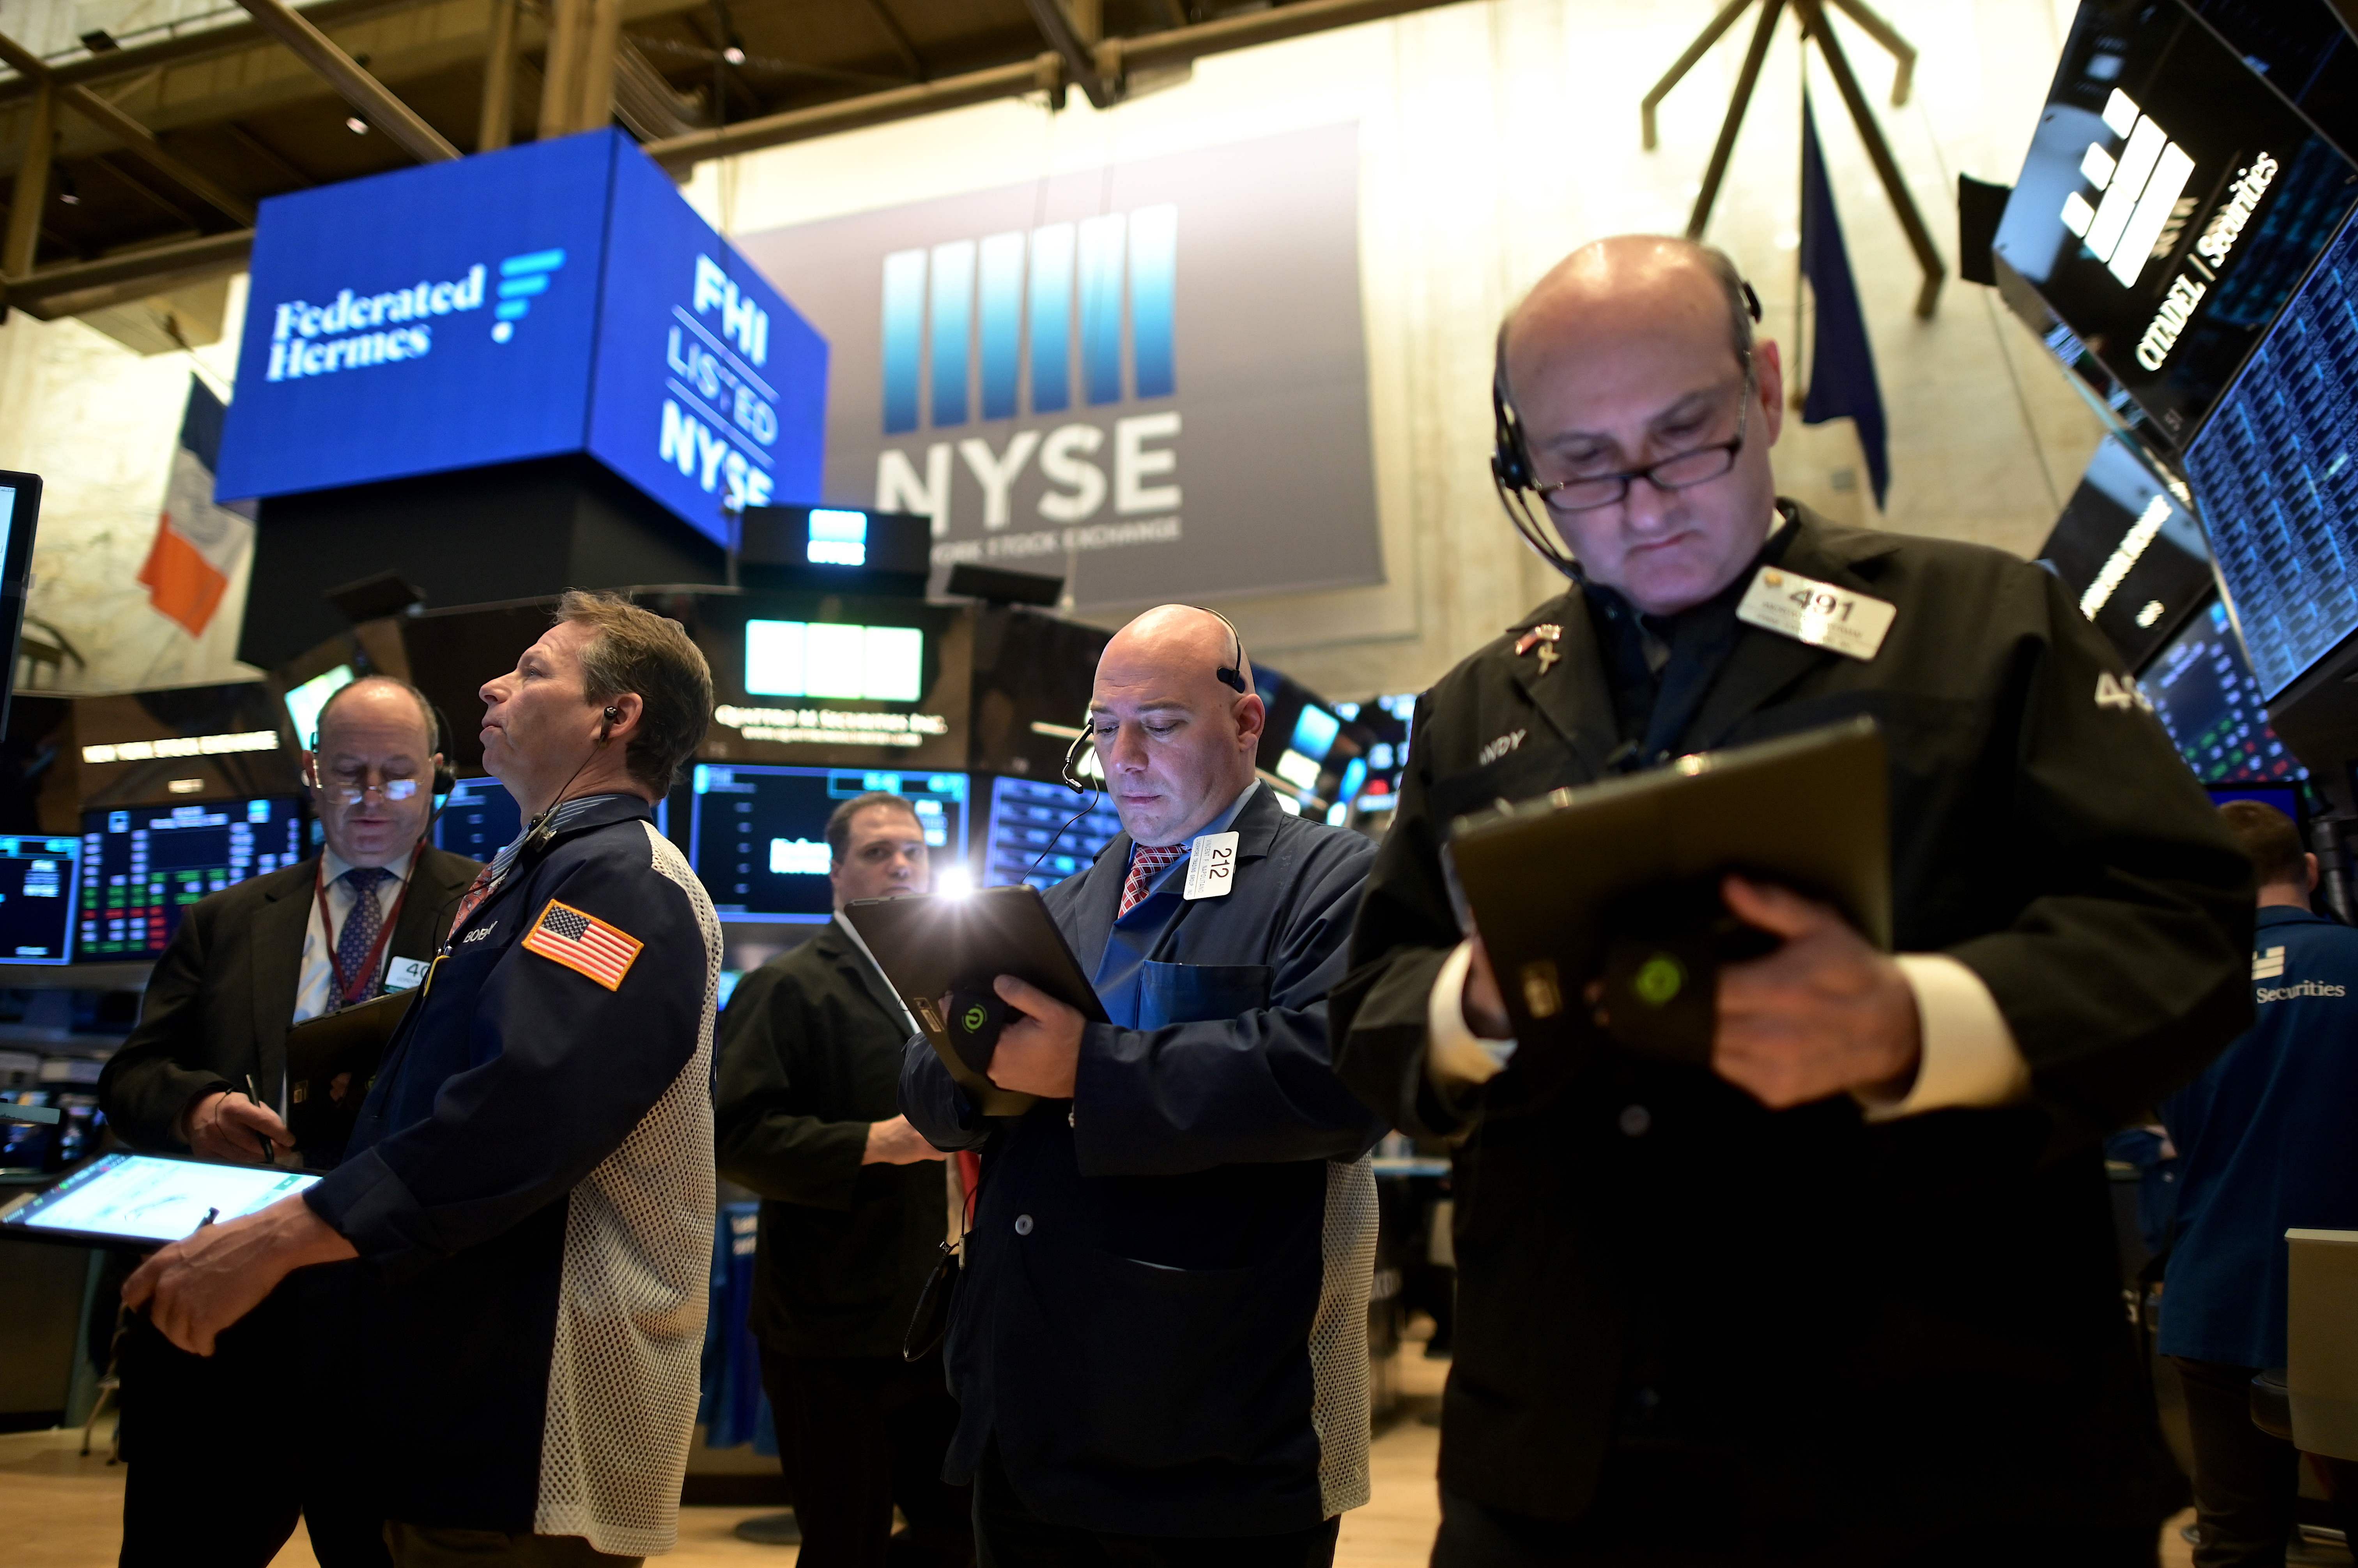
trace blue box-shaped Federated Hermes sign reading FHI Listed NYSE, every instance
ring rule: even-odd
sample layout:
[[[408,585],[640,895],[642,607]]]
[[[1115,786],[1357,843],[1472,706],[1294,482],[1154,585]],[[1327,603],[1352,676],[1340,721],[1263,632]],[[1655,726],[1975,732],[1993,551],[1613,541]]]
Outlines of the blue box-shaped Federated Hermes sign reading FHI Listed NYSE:
[[[217,495],[590,453],[726,542],[818,498],[828,344],[620,132],[262,205]]]

